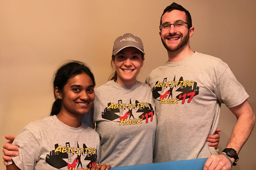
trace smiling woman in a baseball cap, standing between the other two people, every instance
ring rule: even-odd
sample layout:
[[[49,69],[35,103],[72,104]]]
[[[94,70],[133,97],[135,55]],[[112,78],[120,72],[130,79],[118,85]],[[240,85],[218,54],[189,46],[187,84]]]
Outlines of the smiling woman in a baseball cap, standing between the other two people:
[[[157,117],[152,92],[137,75],[144,62],[143,42],[133,34],[113,45],[114,74],[95,89],[94,116],[101,138],[101,162],[113,167],[148,164],[153,160]]]

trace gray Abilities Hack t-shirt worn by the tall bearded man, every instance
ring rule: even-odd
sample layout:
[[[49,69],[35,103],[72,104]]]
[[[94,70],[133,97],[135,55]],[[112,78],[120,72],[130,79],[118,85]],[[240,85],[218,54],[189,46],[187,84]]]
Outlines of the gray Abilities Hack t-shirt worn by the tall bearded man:
[[[215,133],[221,103],[231,108],[248,97],[226,63],[198,52],[181,62],[166,62],[146,82],[157,112],[154,162],[218,154],[206,139]]]

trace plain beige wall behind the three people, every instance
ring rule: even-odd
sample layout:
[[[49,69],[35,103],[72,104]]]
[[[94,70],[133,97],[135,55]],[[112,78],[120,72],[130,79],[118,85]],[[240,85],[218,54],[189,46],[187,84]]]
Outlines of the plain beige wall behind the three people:
[[[161,3],[160,3],[161,2]],[[250,95],[256,112],[256,1],[176,0],[192,15],[193,51],[227,62]],[[49,115],[52,75],[61,62],[86,62],[96,86],[111,73],[113,41],[130,32],[145,45],[142,82],[163,65],[167,53],[158,34],[160,16],[169,0],[0,0],[0,146],[29,122]],[[232,87],[230,87],[232,88]],[[219,126],[222,150],[235,116],[223,105]],[[191,139],[193,140],[193,139]],[[233,170],[255,170],[256,130]],[[2,153],[0,154],[2,158]],[[0,163],[0,169],[4,166]]]

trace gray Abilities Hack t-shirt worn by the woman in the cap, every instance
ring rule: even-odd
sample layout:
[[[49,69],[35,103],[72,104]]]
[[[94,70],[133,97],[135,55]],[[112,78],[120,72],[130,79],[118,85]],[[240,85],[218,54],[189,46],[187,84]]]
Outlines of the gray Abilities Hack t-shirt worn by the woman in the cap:
[[[109,81],[95,89],[94,121],[101,138],[100,161],[112,167],[153,161],[157,119],[147,84]]]

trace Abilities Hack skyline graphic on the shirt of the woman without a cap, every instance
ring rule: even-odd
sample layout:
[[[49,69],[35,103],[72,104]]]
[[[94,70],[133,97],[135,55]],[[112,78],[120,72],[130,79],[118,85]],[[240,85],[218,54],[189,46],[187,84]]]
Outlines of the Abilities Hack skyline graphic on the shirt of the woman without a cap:
[[[90,170],[97,161],[97,150],[88,148],[85,144],[83,147],[70,147],[70,142],[66,142],[65,146],[55,144],[55,150],[47,154],[45,161],[47,164],[59,170],[77,170],[79,168]],[[81,161],[81,159],[84,159]],[[82,162],[87,162],[84,166]]]

